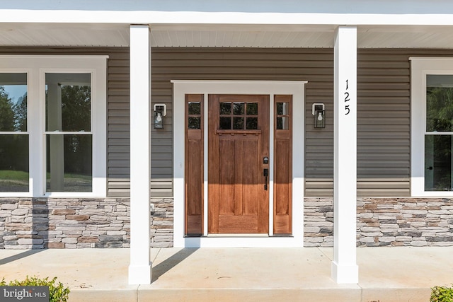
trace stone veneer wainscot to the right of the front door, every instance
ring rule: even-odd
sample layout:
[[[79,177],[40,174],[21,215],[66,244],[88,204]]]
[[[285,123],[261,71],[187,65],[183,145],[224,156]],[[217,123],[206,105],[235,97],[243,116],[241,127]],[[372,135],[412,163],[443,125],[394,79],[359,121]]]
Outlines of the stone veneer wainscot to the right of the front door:
[[[304,246],[333,245],[332,198],[304,201]],[[357,246],[453,246],[453,199],[358,198]]]

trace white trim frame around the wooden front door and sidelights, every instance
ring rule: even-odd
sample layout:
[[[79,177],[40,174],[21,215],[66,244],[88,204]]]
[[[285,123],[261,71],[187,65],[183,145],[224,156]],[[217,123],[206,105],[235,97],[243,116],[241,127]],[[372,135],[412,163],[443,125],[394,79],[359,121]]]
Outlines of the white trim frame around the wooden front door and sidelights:
[[[173,80],[173,246],[176,248],[199,247],[302,247],[304,238],[304,85],[307,81],[180,81]],[[205,95],[205,119],[207,119],[208,94],[291,94],[293,114],[293,160],[292,160],[292,236],[205,236],[185,238],[184,236],[184,101],[185,94]],[[273,106],[270,106],[273,110]],[[272,112],[270,112],[270,116]],[[205,121],[206,123],[206,121]],[[272,132],[270,133],[272,135]],[[205,134],[205,141],[206,139]],[[270,138],[272,140],[272,137]],[[176,146],[178,146],[176,148]],[[270,149],[273,158],[273,149]],[[207,165],[207,144],[205,144],[205,165]],[[270,162],[272,166],[272,162]],[[270,175],[273,175],[270,171]],[[207,167],[205,166],[205,230],[207,229]],[[272,181],[272,176],[270,181]],[[270,182],[270,185],[272,182]],[[272,192],[272,191],[271,191]],[[273,200],[270,194],[270,201]],[[270,202],[270,205],[273,203]],[[273,209],[270,209],[273,216]],[[270,219],[270,223],[272,219]],[[270,230],[273,226],[270,225]],[[272,232],[270,232],[272,234]]]

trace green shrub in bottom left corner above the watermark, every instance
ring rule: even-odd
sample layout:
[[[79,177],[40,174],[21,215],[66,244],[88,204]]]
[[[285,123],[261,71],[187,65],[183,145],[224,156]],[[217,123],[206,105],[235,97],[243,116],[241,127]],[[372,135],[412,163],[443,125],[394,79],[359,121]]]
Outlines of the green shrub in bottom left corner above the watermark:
[[[49,280],[39,279],[38,277],[25,277],[24,280],[14,280],[6,284],[5,279],[0,281],[0,286],[49,286],[49,301],[50,302],[67,302],[69,296],[69,288],[64,287],[62,282],[57,283],[57,277]]]

